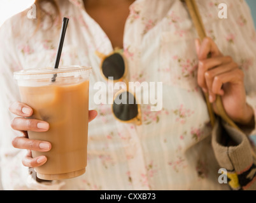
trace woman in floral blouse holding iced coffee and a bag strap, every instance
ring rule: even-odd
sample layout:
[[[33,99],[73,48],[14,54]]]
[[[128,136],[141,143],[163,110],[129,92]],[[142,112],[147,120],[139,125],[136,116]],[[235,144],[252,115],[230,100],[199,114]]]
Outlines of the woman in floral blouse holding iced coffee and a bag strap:
[[[39,2],[36,1],[39,11]],[[46,3],[48,2],[48,3]],[[20,13],[1,29],[1,134],[3,186],[6,189],[71,190],[222,190],[210,143],[208,110],[201,93],[214,103],[222,97],[231,119],[250,132],[255,128],[255,30],[244,1],[225,0],[228,18],[218,18],[217,1],[197,1],[208,38],[201,43],[184,3],[179,0],[43,1],[41,22]],[[32,109],[19,101],[13,71],[52,66],[60,16],[69,18],[60,65],[89,65],[90,112],[87,172],[52,183],[27,181],[27,168],[45,164],[30,150],[51,145],[29,140],[27,131],[47,131],[48,123],[24,119]],[[41,12],[40,12],[41,13]],[[41,13],[42,14],[42,13]],[[52,16],[50,18],[49,16]],[[38,26],[39,25],[39,26]],[[162,82],[163,108],[141,105],[142,125],[117,121],[111,105],[93,101],[95,82],[104,81],[96,51],[108,55],[124,49],[128,81]],[[207,58],[211,52],[212,57]],[[254,108],[254,110],[253,110]],[[216,112],[218,113],[218,112]],[[14,115],[13,115],[14,114]],[[16,117],[16,116],[20,117]],[[11,121],[11,117],[15,117]],[[7,119],[8,118],[8,119]],[[16,131],[12,131],[11,128]],[[38,122],[39,126],[37,125]],[[100,128],[99,128],[100,126]],[[17,135],[19,134],[19,135]],[[29,153],[24,155],[24,150]],[[42,148],[40,148],[43,146]],[[22,158],[24,157],[25,158]],[[31,179],[29,179],[31,180]]]

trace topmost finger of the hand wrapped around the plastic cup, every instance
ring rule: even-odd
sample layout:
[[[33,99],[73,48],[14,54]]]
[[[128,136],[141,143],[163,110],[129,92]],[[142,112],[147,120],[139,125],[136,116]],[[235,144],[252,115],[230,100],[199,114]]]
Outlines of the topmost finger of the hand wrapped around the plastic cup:
[[[20,101],[11,103],[9,110],[11,113],[22,117],[29,117],[33,114],[32,108]]]

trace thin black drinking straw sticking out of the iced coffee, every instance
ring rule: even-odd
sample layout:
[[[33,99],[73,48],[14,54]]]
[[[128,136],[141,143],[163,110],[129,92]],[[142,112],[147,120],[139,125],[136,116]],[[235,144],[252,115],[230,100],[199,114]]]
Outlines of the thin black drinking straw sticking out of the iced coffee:
[[[61,28],[61,33],[60,33],[59,48],[58,48],[58,52],[57,52],[57,56],[56,56],[56,60],[55,60],[54,69],[59,68],[60,56],[61,56],[62,47],[63,47],[63,44],[64,44],[66,30],[67,30],[67,27],[68,27],[68,21],[69,21],[69,18],[63,18],[62,28]],[[57,77],[57,74],[54,74],[53,77],[52,77],[52,82],[55,82],[56,77]]]

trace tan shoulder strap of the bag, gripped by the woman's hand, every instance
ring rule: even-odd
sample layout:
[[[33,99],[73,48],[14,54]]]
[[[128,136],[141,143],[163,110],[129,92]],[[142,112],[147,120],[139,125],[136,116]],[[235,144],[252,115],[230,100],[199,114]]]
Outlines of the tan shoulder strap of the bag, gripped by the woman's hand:
[[[188,11],[190,13],[190,16],[192,18],[192,21],[196,27],[197,30],[197,34],[199,35],[199,38],[201,39],[201,41],[203,41],[203,39],[206,37],[206,32],[204,29],[204,24],[201,18],[201,15],[199,13],[199,10],[197,8],[197,4],[195,0],[185,0],[185,3],[187,4],[187,8]],[[210,58],[211,56],[208,55],[208,58]],[[208,93],[204,93],[204,97],[206,99],[206,104],[207,104],[207,108],[208,108],[208,112],[210,115],[210,119],[211,119],[211,126],[213,127],[215,124],[215,114],[213,112],[213,107],[209,101],[209,95]],[[233,128],[238,129],[239,131],[241,131],[241,129],[238,128],[238,126],[234,123],[234,121],[232,121],[229,116],[227,115],[227,113],[225,112],[223,103],[222,103],[222,99],[220,97],[220,95],[217,95],[217,99],[215,101],[216,106],[217,106],[217,110],[220,114],[220,117],[227,122],[229,125],[231,125]]]

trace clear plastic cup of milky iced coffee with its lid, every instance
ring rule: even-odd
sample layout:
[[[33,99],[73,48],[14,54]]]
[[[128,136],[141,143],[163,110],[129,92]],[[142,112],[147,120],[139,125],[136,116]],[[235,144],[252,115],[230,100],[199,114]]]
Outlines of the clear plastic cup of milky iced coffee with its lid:
[[[22,102],[33,109],[30,118],[50,124],[47,132],[28,132],[31,139],[52,144],[49,152],[32,151],[32,157],[47,157],[43,166],[35,168],[40,179],[60,180],[85,173],[89,74],[90,68],[86,67],[31,69],[15,73]]]

